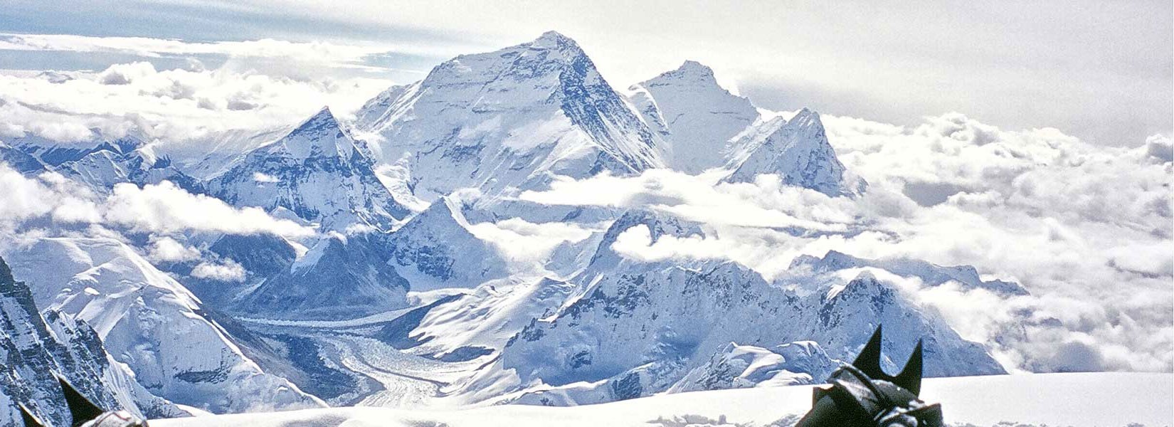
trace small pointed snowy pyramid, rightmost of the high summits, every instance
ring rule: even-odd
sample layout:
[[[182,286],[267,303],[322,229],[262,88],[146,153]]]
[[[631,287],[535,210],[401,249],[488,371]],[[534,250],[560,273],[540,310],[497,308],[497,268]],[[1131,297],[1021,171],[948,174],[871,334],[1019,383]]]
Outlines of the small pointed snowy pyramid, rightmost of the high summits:
[[[828,142],[819,114],[807,108],[762,141],[751,142],[735,164],[729,182],[754,182],[758,175],[775,174],[784,184],[832,197],[861,194],[866,185],[846,174]]]

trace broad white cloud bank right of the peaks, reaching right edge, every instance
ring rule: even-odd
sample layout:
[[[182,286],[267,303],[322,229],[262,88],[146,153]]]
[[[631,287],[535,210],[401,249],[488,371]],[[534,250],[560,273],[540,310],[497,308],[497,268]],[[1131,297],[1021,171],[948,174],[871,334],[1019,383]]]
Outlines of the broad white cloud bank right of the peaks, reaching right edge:
[[[781,187],[771,176],[727,184],[663,170],[559,181],[520,198],[697,221],[704,236],[652,244],[648,230],[635,226],[613,248],[637,259],[733,259],[768,279],[784,277],[798,255],[832,249],[971,264],[1020,282],[1032,296],[905,289],[967,338],[991,345],[1010,368],[1174,370],[1167,136],[1105,148],[1055,129],[1006,131],[960,114],[912,128],[826,115],[824,122],[841,160],[870,182],[855,201]],[[818,232],[794,236],[787,228]]]

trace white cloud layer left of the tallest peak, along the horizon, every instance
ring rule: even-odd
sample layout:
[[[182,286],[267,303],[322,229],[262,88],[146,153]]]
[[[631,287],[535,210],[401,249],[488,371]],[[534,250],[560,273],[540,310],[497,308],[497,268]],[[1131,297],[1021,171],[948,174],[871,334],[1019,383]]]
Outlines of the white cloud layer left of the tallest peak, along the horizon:
[[[207,154],[228,131],[288,127],[323,106],[353,111],[387,81],[367,77],[294,79],[231,67],[156,69],[117,63],[101,72],[0,74],[0,140],[41,136],[87,142],[134,131],[161,149]],[[195,143],[195,147],[189,143]],[[242,148],[243,149],[243,148]]]

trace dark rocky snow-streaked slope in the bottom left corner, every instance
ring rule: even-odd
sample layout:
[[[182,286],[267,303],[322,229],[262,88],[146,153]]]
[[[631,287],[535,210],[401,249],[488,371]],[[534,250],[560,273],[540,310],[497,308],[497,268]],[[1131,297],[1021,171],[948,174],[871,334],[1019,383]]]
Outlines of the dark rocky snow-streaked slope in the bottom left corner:
[[[153,418],[187,413],[134,381],[113,362],[97,334],[83,323],[50,311],[38,312],[33,293],[12,277],[0,258],[0,426],[21,426],[16,404],[53,426],[67,426],[69,412],[54,373],[103,407]]]

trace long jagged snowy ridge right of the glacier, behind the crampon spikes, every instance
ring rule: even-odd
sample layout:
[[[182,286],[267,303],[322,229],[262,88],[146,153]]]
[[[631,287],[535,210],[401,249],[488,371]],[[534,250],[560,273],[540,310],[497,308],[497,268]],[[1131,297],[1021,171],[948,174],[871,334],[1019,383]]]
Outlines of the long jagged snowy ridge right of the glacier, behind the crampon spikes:
[[[571,279],[576,293],[556,313],[518,333],[466,391],[485,398],[485,391],[519,392],[507,399],[545,405],[632,399],[668,389],[730,341],[814,340],[843,359],[863,346],[877,324],[890,331],[885,348],[900,354],[925,339],[929,375],[1004,372],[981,345],[963,340],[937,312],[869,273],[799,294],[733,262],[641,262],[614,252],[614,236],[633,228],[656,237],[700,233],[697,225],[661,214],[621,217],[605,233],[592,264]]]

